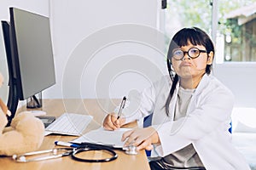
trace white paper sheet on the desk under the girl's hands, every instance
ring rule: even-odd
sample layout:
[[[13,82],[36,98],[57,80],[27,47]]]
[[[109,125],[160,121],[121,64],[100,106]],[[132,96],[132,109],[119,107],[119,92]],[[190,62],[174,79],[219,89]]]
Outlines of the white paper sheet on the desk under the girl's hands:
[[[85,133],[78,139],[74,139],[73,143],[90,142],[96,144],[111,144],[114,147],[122,148],[125,142],[122,142],[122,135],[125,131],[131,130],[131,128],[119,128],[118,130],[108,131],[103,127],[96,130],[92,130],[89,133]]]

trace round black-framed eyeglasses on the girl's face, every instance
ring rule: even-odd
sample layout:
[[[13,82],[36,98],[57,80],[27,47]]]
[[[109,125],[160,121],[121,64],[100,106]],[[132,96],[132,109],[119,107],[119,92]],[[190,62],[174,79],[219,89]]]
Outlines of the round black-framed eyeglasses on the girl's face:
[[[201,53],[207,53],[207,50],[201,50],[199,48],[189,48],[188,51],[183,51],[181,49],[174,49],[172,52],[172,57],[177,60],[182,60],[186,53],[189,55],[189,58],[195,59],[199,57]]]

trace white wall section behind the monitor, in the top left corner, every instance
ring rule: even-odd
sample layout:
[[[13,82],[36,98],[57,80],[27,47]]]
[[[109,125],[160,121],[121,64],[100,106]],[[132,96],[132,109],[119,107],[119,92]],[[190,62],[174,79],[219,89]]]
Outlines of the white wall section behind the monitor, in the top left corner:
[[[0,20],[9,20],[9,7],[26,9],[28,11],[49,16],[49,1],[34,0],[1,0],[0,1]],[[8,98],[8,68],[3,46],[3,31],[0,26],[0,71],[5,77],[4,85],[0,88],[0,96],[7,101]]]

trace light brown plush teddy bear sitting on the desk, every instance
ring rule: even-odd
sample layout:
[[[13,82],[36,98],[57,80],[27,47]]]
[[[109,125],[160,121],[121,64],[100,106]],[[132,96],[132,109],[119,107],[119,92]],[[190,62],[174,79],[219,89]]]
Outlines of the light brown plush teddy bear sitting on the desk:
[[[3,76],[0,73],[0,88]],[[38,150],[44,140],[44,123],[29,111],[14,117],[10,127],[6,127],[10,111],[0,99],[0,155],[12,156]]]

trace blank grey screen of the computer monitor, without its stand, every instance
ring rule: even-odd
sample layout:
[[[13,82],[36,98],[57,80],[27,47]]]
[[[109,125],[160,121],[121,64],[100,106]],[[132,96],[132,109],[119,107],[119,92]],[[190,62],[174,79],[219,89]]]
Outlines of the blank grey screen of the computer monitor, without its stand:
[[[27,99],[55,84],[49,18],[10,8],[10,23],[20,99]]]

